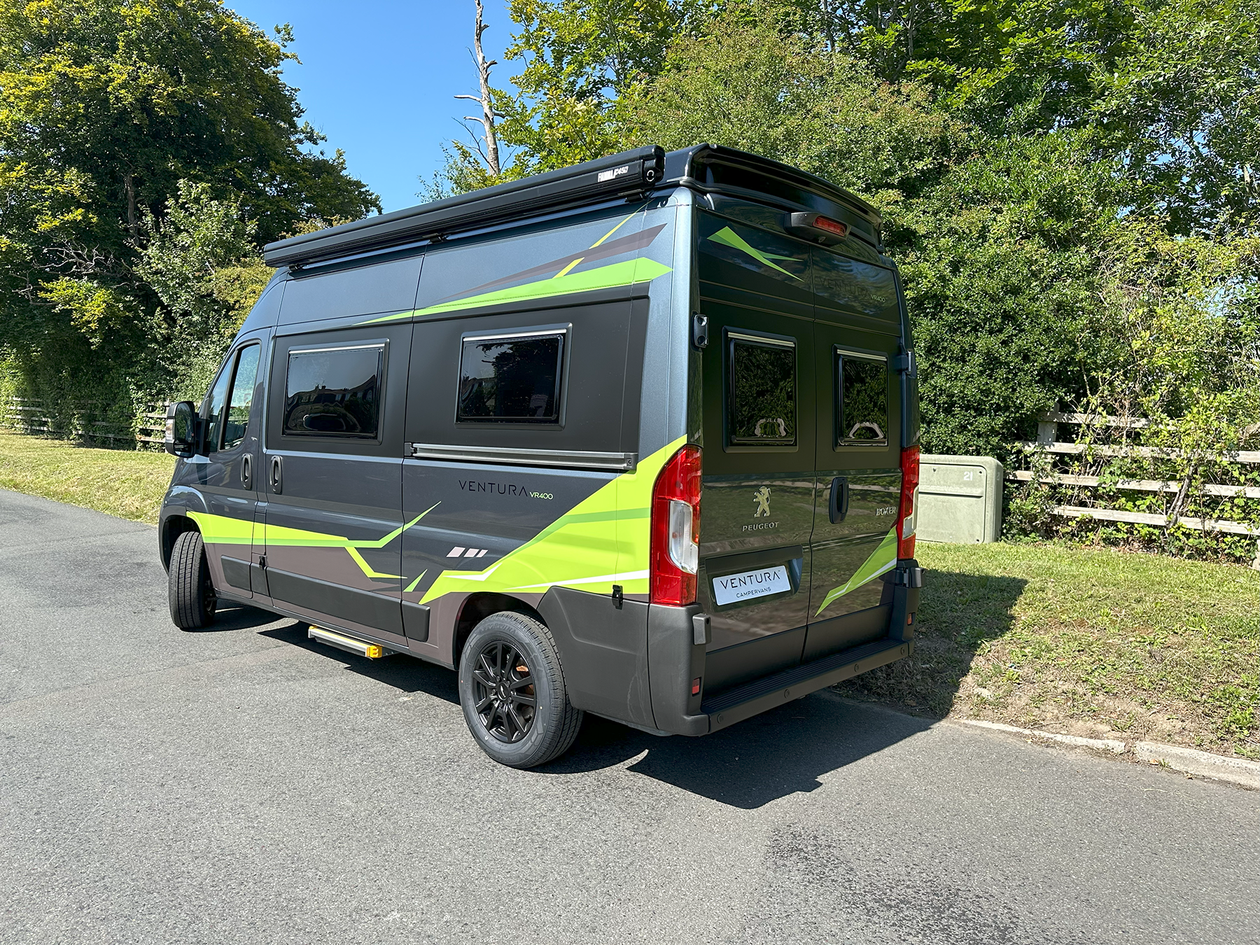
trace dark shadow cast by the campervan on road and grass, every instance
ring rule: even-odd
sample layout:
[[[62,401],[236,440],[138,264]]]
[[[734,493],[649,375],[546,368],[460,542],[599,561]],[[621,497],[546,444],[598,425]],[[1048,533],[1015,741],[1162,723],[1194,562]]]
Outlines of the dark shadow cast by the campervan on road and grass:
[[[915,655],[850,680],[839,687],[840,694],[945,714],[976,650],[1013,625],[1013,609],[1024,585],[1019,578],[932,572],[916,627]],[[241,610],[236,617],[246,621],[236,624],[241,629],[275,619],[248,607]],[[251,611],[258,615],[257,622],[248,622],[246,614]],[[455,673],[442,667],[403,656],[369,660],[331,650],[309,640],[306,624],[297,621],[261,635],[343,660],[350,672],[399,692],[423,692],[459,704]],[[564,777],[635,759],[629,771],[721,804],[756,809],[816,790],[824,775],[924,732],[934,721],[850,702],[830,690],[701,738],[664,738],[587,716],[573,747],[536,772]]]

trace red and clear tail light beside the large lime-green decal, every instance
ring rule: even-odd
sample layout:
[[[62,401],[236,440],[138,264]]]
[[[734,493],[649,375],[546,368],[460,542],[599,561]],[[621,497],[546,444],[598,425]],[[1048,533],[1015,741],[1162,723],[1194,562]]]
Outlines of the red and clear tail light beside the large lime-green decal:
[[[701,450],[684,446],[651,490],[651,602],[696,601],[701,541]]]

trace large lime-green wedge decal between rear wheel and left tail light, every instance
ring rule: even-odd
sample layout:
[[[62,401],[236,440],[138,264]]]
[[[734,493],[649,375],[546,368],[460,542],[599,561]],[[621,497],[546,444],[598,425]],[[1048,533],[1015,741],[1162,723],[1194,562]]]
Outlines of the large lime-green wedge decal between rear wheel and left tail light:
[[[444,571],[421,604],[444,593],[544,593],[549,587],[648,593],[651,488],[683,445],[679,437],[552,522],[484,571]],[[602,585],[602,587],[600,587]]]

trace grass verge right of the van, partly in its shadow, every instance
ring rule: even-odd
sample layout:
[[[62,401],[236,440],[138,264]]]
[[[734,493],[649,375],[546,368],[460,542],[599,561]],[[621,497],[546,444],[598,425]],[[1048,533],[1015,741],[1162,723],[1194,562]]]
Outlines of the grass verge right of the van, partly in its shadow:
[[[910,659],[840,684],[937,717],[1260,759],[1260,573],[1067,544],[919,546]]]

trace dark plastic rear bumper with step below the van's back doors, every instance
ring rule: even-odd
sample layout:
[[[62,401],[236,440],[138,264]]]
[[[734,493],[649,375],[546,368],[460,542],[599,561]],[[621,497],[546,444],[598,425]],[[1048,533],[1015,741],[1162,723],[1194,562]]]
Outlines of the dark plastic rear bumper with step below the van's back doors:
[[[830,653],[777,673],[706,697],[692,694],[693,682],[703,687],[706,644],[697,641],[698,605],[662,607],[648,612],[648,664],[655,727],[674,735],[707,735],[811,692],[850,679],[869,669],[905,659],[915,651],[914,624],[919,609],[922,572],[912,558],[898,561],[890,575],[893,587],[886,636]]]

